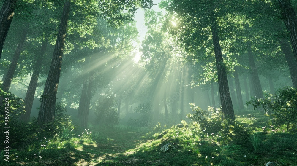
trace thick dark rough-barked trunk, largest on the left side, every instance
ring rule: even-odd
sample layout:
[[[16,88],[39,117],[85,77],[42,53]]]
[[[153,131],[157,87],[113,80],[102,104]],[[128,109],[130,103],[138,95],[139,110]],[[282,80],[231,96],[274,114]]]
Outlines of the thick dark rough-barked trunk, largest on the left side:
[[[69,9],[70,1],[65,1],[58,37],[53,53],[53,59],[50,65],[50,71],[48,73],[48,78],[46,79],[42,95],[40,110],[37,119],[39,124],[52,121],[55,118],[56,95],[61,73],[62,56],[64,51],[63,47],[66,37]]]

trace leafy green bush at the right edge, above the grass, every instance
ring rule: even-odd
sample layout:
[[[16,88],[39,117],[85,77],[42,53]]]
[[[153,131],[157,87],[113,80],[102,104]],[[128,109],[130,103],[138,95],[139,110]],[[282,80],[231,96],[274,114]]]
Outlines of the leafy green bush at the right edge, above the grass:
[[[265,93],[264,98],[252,98],[247,104],[263,108],[273,116],[271,122],[286,125],[287,132],[297,123],[297,90],[293,87],[279,89],[275,95]]]

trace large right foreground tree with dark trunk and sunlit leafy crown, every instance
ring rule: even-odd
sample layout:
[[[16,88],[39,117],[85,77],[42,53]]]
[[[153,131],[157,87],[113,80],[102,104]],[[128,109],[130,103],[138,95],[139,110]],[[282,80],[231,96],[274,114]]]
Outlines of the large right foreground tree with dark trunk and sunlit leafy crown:
[[[226,3],[226,4],[224,4]],[[182,25],[173,27],[173,33],[179,36],[179,41],[183,43],[188,51],[195,52],[200,48],[198,45],[203,43],[211,36],[214,48],[215,62],[218,72],[219,94],[222,104],[222,112],[225,117],[235,119],[232,101],[230,98],[226,67],[222,57],[219,39],[219,19],[228,15],[230,3],[233,1],[177,1],[164,2],[164,6],[170,13],[176,13],[174,21]],[[172,17],[171,17],[172,18]],[[170,18],[170,19],[171,19]],[[205,33],[205,34],[203,34]],[[221,32],[222,33],[222,32]],[[222,36],[222,35],[220,35]]]

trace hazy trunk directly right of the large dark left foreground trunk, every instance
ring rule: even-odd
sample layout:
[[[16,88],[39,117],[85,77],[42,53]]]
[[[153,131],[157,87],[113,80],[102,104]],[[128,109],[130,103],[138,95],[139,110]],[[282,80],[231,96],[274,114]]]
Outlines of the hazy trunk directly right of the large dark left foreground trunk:
[[[88,87],[87,87],[86,106],[85,106],[85,110],[83,111],[83,116],[82,116],[82,121],[81,121],[82,128],[85,128],[88,125],[92,88],[93,88],[93,82],[94,82],[94,78],[95,78],[94,74],[95,74],[95,72],[94,72],[94,70],[92,70],[90,72],[89,83],[88,83]]]

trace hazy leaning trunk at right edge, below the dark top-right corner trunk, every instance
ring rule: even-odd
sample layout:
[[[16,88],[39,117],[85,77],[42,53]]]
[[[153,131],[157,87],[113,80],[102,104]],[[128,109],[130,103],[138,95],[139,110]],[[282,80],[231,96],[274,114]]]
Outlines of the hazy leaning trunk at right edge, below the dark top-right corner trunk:
[[[290,43],[286,39],[282,39],[280,42],[281,50],[285,54],[289,66],[293,87],[297,88],[297,63],[290,47]]]

